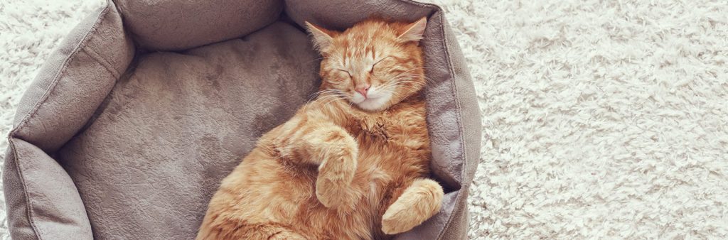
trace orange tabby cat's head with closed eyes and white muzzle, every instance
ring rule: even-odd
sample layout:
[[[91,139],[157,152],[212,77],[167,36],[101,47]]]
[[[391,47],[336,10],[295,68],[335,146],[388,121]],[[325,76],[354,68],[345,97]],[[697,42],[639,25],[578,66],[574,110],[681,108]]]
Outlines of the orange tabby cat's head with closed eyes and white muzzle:
[[[306,22],[323,56],[321,90],[365,111],[382,111],[425,84],[422,39],[427,19],[414,23],[370,19],[346,31]]]

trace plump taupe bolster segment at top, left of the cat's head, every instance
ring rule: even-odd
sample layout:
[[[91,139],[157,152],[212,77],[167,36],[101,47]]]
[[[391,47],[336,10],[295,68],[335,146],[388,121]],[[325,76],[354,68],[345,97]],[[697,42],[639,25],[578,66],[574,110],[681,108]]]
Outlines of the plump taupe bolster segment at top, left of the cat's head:
[[[127,31],[141,47],[183,50],[245,36],[273,23],[282,1],[117,0]]]

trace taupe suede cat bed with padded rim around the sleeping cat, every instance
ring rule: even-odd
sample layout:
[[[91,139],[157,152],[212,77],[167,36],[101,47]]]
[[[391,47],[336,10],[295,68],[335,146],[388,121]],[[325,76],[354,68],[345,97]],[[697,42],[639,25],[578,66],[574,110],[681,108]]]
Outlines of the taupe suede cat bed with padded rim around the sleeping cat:
[[[14,239],[193,239],[220,180],[317,89],[304,21],[429,18],[443,209],[400,239],[462,239],[478,164],[472,81],[439,7],[407,0],[108,1],[25,92],[4,166]]]

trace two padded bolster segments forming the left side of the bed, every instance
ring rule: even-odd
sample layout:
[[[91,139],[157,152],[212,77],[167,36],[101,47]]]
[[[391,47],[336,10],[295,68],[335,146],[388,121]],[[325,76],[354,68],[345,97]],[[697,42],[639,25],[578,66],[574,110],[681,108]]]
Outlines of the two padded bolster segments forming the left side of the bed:
[[[25,92],[3,171],[13,239],[92,238],[84,202],[52,155],[90,119],[133,52],[116,9],[100,9],[69,34]]]

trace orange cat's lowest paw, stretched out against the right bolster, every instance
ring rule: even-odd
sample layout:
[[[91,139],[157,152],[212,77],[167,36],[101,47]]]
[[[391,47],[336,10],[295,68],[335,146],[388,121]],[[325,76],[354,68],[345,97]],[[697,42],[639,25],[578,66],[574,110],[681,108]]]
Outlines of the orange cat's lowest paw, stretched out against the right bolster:
[[[414,180],[384,212],[381,231],[403,233],[420,225],[440,211],[443,194],[443,187],[433,180]]]

